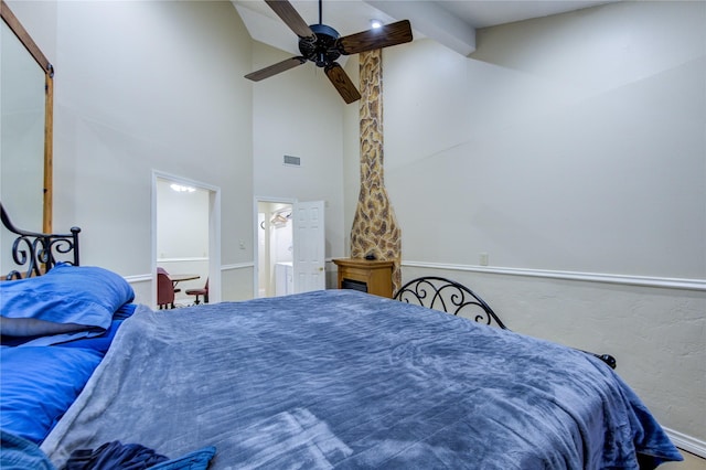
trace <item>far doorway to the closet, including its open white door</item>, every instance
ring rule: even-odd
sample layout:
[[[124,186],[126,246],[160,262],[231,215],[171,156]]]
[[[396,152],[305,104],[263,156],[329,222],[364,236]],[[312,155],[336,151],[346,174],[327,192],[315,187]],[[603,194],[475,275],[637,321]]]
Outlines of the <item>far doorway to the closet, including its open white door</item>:
[[[255,197],[255,296],[325,288],[323,201]]]

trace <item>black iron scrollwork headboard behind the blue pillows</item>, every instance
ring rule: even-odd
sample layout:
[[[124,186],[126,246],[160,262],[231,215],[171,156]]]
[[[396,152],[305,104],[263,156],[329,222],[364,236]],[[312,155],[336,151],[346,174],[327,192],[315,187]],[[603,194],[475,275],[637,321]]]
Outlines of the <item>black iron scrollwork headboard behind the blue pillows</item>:
[[[17,265],[4,277],[7,280],[41,276],[57,263],[69,263],[78,266],[78,233],[81,228],[72,227],[71,234],[43,234],[23,231],[15,227],[0,203],[2,225],[18,235],[12,242],[12,260]]]

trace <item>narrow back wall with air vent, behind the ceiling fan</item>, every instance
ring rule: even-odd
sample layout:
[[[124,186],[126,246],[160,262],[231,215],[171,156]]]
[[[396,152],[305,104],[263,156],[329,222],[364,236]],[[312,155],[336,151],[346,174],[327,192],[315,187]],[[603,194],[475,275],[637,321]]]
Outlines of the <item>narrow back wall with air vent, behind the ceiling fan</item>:
[[[256,42],[253,70],[290,56]],[[325,256],[343,256],[342,113],[357,105],[345,105],[313,63],[257,82],[253,96],[255,195],[325,201]],[[301,167],[284,165],[285,154],[301,158]]]

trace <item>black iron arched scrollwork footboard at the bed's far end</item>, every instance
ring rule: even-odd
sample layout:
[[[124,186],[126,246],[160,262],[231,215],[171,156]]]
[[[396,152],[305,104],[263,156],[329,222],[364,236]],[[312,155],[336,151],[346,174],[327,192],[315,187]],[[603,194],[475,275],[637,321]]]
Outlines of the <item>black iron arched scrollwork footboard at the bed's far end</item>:
[[[475,292],[462,284],[442,277],[426,276],[413,279],[400,287],[394,298],[454,316],[462,313],[461,317],[470,318],[479,323],[510,330]],[[612,355],[582,352],[592,354],[611,368],[616,368],[617,362]]]

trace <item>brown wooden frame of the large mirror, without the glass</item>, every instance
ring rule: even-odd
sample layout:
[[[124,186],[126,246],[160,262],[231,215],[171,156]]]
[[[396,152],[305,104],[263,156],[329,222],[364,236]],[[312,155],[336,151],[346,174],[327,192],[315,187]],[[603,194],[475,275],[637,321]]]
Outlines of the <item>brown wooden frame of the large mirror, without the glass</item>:
[[[46,60],[40,47],[26,32],[20,20],[12,13],[4,0],[0,0],[0,17],[14,35],[24,45],[34,61],[44,71],[45,99],[44,99],[44,195],[42,212],[42,229],[52,232],[52,177],[53,177],[53,141],[54,141],[54,66]]]

